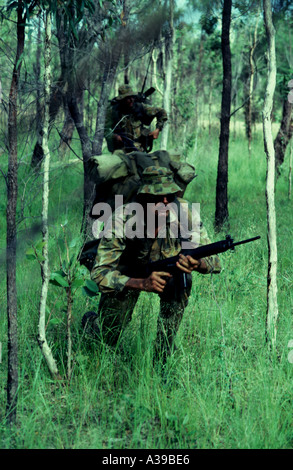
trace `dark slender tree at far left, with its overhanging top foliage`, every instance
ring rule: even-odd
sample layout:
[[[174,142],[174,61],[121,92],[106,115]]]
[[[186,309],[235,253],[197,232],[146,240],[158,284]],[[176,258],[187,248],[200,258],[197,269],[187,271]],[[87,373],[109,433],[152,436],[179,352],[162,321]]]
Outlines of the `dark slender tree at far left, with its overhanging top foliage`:
[[[75,27],[70,16],[70,4],[77,11],[76,19],[80,21],[84,9],[92,6],[90,0],[73,1],[62,4],[67,24]],[[11,424],[16,422],[17,392],[18,392],[18,339],[17,339],[17,285],[16,285],[16,248],[17,225],[16,210],[18,200],[18,96],[21,66],[25,54],[25,33],[33,14],[43,9],[53,14],[59,6],[58,0],[8,1],[1,13],[5,19],[13,16],[16,24],[17,42],[13,62],[13,71],[9,92],[8,106],[8,172],[7,182],[7,229],[6,229],[6,269],[7,269],[7,317],[8,317],[8,379],[7,379],[7,416]],[[69,6],[69,9],[67,8]]]

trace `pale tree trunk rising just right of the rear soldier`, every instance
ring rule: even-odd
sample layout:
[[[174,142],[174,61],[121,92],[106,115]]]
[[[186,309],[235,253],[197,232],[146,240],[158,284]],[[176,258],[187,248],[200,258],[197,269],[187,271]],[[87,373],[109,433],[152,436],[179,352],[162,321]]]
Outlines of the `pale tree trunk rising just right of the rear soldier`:
[[[167,112],[168,117],[171,115],[171,88],[172,88],[172,68],[173,68],[173,45],[174,45],[174,0],[170,2],[170,20],[169,31],[165,39],[165,79],[164,79],[164,98],[163,107]],[[166,150],[168,146],[170,121],[168,120],[161,134],[161,149]]]

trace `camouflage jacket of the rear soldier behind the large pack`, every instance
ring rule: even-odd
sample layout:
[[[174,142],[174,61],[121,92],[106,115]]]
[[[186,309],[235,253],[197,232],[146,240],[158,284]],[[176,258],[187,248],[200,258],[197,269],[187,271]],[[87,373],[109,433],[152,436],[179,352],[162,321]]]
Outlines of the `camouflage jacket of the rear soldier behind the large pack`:
[[[149,126],[155,118],[157,119],[156,128],[162,130],[167,121],[167,113],[163,108],[135,103],[132,113],[123,114],[119,102],[111,103],[107,108],[105,120],[105,139],[108,150],[114,152],[123,148],[113,138],[113,134],[123,134],[133,142],[137,150],[143,151],[144,149],[138,140],[144,126]]]

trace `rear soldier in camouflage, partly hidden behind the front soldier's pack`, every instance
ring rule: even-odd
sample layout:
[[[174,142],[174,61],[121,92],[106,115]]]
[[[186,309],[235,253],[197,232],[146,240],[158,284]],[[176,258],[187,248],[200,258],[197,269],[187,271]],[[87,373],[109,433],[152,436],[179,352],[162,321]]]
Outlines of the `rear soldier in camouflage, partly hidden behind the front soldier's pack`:
[[[157,139],[167,121],[167,113],[163,108],[156,108],[140,103],[137,94],[129,85],[119,87],[119,94],[114,98],[106,113],[105,139],[110,152],[122,149],[125,153],[135,150],[146,151],[142,135],[149,139]],[[153,119],[157,120],[156,129],[152,132],[144,128]]]

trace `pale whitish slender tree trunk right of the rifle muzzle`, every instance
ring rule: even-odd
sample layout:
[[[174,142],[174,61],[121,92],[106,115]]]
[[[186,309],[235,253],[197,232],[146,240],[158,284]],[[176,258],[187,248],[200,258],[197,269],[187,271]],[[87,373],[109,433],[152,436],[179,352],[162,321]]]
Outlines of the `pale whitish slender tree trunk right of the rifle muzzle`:
[[[268,276],[267,276],[267,340],[274,350],[276,346],[277,301],[277,235],[275,210],[275,151],[272,136],[271,113],[276,87],[275,29],[272,21],[270,0],[263,0],[264,23],[268,41],[268,78],[263,107],[264,147],[267,156],[266,202],[268,228]]]

